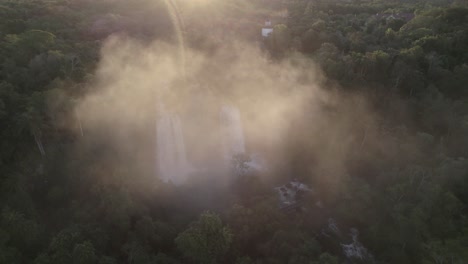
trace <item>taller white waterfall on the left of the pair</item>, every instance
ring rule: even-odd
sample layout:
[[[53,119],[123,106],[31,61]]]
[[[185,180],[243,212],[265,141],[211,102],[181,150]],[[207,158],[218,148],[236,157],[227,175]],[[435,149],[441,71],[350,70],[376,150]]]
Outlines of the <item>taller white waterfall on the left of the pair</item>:
[[[159,115],[156,124],[159,176],[163,181],[180,184],[187,179],[187,174],[190,172],[180,118],[165,111],[161,103]]]

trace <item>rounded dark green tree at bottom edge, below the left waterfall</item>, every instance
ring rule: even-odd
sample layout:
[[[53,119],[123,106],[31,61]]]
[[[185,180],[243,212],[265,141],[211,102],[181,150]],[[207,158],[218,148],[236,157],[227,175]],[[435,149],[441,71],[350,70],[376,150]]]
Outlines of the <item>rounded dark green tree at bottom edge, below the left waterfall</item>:
[[[213,264],[218,263],[229,250],[232,234],[217,214],[205,212],[179,234],[175,242],[187,258],[196,263]]]

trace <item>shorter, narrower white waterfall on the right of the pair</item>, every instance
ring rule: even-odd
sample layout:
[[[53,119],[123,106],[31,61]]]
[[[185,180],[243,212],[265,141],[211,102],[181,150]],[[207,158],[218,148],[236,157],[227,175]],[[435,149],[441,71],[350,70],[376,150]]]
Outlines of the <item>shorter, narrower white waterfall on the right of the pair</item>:
[[[245,153],[244,132],[239,109],[233,106],[221,108],[221,131],[224,144],[224,158],[231,162],[232,158]]]

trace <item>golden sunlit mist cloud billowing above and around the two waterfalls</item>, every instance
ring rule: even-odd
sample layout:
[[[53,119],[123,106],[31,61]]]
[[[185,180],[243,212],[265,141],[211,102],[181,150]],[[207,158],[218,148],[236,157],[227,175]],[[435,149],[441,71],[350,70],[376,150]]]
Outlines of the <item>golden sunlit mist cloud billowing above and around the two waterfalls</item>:
[[[154,170],[158,104],[181,117],[189,159],[219,162],[219,113],[240,109],[247,152],[288,177],[339,181],[356,153],[381,151],[364,96],[327,87],[300,55],[271,61],[258,47],[229,42],[209,54],[167,43],[113,37],[103,45],[92,92],[77,107],[83,127]],[[104,136],[103,136],[104,135]],[[152,167],[153,166],[153,167]],[[315,176],[314,176],[315,175]]]

